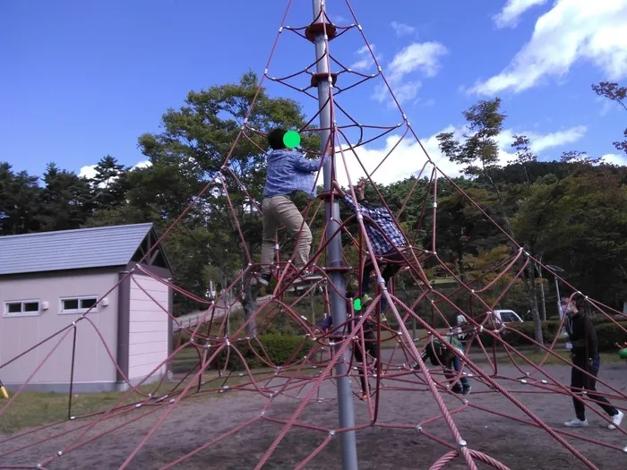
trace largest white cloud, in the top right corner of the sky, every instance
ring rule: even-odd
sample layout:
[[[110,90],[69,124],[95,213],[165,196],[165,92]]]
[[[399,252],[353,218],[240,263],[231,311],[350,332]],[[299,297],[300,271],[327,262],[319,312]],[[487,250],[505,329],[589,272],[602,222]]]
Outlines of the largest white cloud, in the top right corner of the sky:
[[[627,76],[627,0],[556,0],[536,22],[528,43],[502,73],[470,90],[480,95],[520,92],[545,77],[562,79],[580,61],[595,64],[607,80]]]

